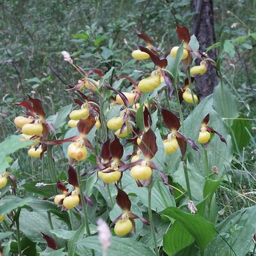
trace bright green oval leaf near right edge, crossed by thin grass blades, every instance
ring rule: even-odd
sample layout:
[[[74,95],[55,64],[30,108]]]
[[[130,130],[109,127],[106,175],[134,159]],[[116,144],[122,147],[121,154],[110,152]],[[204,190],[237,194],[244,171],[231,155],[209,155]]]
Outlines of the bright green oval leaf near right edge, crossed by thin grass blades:
[[[249,120],[243,120],[239,118],[247,118],[246,115],[240,115],[238,119],[234,119],[232,126],[230,127],[232,131],[232,141],[233,145],[237,147],[238,151],[242,151],[250,142],[250,134],[253,134],[251,129],[251,122]]]

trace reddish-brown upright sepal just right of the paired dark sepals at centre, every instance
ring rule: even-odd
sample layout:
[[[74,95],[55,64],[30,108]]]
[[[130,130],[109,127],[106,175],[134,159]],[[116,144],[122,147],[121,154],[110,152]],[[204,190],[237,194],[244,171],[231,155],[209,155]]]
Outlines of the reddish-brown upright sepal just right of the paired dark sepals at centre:
[[[148,129],[146,133],[142,135],[139,149],[142,151],[146,158],[151,159],[154,157],[156,151],[158,151],[158,146],[156,145],[156,135],[154,131]]]

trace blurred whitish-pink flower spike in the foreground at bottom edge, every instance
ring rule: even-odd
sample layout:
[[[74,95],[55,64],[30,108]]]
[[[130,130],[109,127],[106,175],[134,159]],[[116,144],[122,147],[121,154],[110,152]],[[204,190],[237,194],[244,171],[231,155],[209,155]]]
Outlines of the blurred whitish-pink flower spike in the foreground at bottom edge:
[[[102,220],[102,218],[99,218],[97,220],[97,225],[98,225],[98,240],[100,240],[100,243],[103,247],[103,254],[102,256],[106,256],[107,255],[107,251],[109,249],[110,246],[110,239],[111,239],[111,233],[110,233],[110,229],[109,226],[106,224],[106,222],[104,220]]]

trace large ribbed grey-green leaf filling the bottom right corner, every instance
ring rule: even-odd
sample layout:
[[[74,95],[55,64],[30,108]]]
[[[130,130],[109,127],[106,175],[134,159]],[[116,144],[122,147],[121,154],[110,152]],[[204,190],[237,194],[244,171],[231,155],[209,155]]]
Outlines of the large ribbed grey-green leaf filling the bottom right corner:
[[[256,207],[238,210],[217,225],[218,233],[205,250],[207,256],[246,255],[256,228]],[[224,239],[226,241],[224,241]]]

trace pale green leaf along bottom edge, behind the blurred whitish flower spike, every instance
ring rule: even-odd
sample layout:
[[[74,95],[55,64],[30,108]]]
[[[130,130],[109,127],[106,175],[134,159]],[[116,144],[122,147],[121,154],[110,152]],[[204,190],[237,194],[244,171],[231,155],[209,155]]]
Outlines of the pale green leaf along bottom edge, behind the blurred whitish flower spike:
[[[77,242],[77,245],[85,246],[90,249],[99,251],[102,254],[102,245],[98,240],[98,236],[86,237]],[[132,246],[131,246],[132,245]],[[154,256],[155,253],[147,246],[143,245],[132,238],[112,237],[111,245],[108,249],[108,256]],[[86,255],[86,254],[85,254]]]

